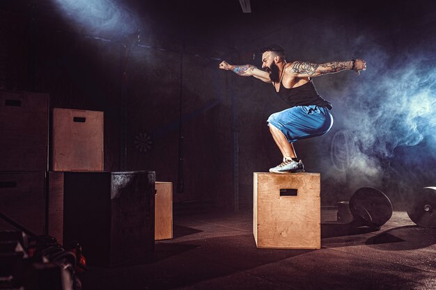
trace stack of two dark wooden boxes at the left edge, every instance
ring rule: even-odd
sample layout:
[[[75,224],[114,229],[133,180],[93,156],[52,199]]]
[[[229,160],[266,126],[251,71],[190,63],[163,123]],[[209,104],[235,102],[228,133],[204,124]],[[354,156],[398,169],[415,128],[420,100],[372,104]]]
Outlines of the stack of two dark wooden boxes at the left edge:
[[[0,212],[34,234],[46,230],[48,112],[47,94],[0,91]]]

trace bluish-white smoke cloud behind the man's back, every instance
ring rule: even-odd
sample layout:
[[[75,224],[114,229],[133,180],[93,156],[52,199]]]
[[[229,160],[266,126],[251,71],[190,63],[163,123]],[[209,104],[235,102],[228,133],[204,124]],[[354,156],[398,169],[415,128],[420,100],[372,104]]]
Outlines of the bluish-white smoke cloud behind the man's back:
[[[333,111],[339,128],[330,133],[330,164],[323,164],[336,169],[326,177],[352,184],[380,184],[398,147],[428,140],[434,150],[427,154],[436,158],[434,56],[368,51],[367,70],[341,88],[341,114]]]

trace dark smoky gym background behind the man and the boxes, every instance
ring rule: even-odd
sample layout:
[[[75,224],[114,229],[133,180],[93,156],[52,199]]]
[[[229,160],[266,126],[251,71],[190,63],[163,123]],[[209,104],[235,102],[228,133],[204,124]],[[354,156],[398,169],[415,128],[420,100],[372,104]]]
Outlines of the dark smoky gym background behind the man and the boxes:
[[[334,127],[295,149],[322,175],[322,204],[372,186],[401,209],[436,185],[433,1],[251,0],[252,13],[238,0],[0,3],[0,89],[104,111],[104,170],[155,170],[178,204],[251,209],[253,172],[280,163],[265,120],[286,105],[217,68],[260,66],[272,43],[289,61],[367,61],[360,76],[314,81]]]

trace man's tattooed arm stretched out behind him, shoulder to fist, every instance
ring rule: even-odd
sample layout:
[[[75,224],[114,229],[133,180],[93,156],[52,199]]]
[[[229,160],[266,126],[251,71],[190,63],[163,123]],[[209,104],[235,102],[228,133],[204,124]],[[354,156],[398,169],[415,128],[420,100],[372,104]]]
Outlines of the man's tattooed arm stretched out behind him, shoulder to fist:
[[[366,63],[363,59],[355,61],[333,61],[331,63],[308,63],[295,61],[290,66],[290,73],[296,77],[320,76],[321,74],[333,74],[341,70],[354,70],[359,74],[361,70],[366,70]]]

